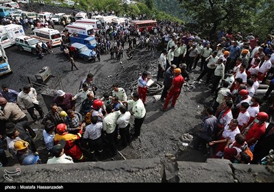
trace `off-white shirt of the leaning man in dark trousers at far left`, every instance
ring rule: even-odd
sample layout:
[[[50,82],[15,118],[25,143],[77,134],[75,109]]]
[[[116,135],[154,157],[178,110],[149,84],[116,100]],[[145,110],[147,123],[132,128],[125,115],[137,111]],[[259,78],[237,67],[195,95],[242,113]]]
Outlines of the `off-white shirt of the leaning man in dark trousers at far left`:
[[[30,88],[28,94],[21,91],[17,96],[17,103],[20,108],[32,108],[34,104],[39,104],[36,99],[37,93],[35,88]]]

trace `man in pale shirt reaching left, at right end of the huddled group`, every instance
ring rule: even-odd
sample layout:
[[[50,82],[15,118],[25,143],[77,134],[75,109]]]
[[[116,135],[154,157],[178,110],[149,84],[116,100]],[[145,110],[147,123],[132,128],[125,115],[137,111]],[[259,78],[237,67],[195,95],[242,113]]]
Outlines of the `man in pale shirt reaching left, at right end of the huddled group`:
[[[123,104],[132,104],[132,112],[130,112],[134,116],[134,137],[140,136],[141,126],[145,120],[146,109],[142,100],[139,99],[138,93],[134,92],[132,95],[132,100],[123,101]]]

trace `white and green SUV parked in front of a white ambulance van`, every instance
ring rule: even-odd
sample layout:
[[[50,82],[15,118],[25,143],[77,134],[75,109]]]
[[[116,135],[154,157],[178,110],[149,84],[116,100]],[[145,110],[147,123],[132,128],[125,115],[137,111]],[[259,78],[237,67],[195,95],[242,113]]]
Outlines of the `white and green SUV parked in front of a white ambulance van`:
[[[20,51],[29,51],[34,55],[38,54],[36,49],[36,44],[38,43],[42,47],[42,42],[37,38],[33,38],[31,36],[18,36],[15,39],[16,45]]]

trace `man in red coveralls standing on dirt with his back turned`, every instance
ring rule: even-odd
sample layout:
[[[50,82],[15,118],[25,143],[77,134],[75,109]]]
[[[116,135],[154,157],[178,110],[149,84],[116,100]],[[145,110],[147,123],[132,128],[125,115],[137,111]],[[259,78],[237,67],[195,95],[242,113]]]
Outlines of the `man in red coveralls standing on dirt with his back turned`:
[[[182,84],[184,84],[184,77],[182,77],[181,75],[181,69],[176,68],[174,69],[173,72],[174,72],[174,78],[172,81],[172,85],[171,85],[171,88],[169,88],[169,90],[167,91],[168,94],[166,96],[164,108],[161,109],[164,111],[167,110],[167,106],[169,104],[169,100],[171,99],[171,97],[173,97],[171,106],[172,108],[175,108],[176,100],[179,97],[180,88],[182,87]]]

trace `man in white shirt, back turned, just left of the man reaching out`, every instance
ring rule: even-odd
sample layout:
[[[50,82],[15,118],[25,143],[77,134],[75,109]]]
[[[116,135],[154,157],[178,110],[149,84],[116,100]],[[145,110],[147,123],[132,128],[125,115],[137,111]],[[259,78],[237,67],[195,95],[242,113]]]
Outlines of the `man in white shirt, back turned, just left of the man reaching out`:
[[[129,134],[129,128],[130,123],[129,119],[131,117],[131,114],[129,111],[127,111],[127,108],[125,106],[120,106],[119,108],[121,115],[116,121],[116,125],[118,125],[119,133],[121,135],[122,145],[123,147],[127,146],[127,143],[130,143],[130,134]]]

